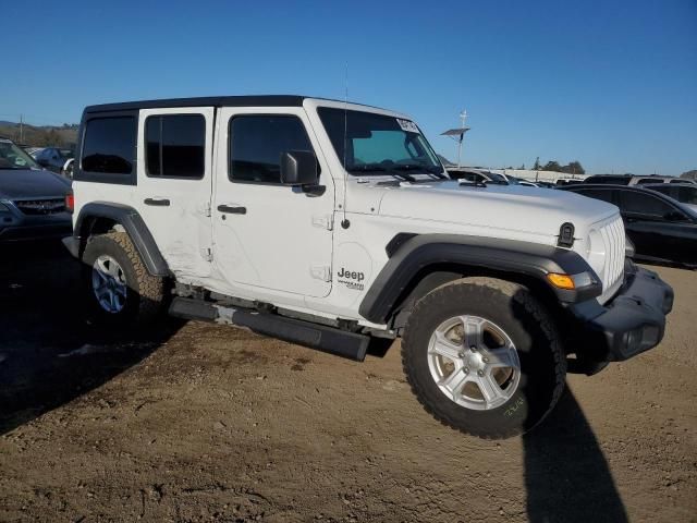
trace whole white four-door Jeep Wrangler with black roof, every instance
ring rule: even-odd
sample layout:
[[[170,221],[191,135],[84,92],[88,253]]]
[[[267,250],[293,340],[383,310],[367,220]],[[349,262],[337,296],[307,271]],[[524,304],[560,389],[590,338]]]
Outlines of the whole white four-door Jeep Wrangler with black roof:
[[[505,438],[567,369],[660,342],[673,292],[625,258],[616,207],[450,180],[404,114],[298,96],[85,109],[74,235],[108,323],[170,314],[364,360],[402,337],[439,421]],[[631,247],[628,247],[631,250]]]

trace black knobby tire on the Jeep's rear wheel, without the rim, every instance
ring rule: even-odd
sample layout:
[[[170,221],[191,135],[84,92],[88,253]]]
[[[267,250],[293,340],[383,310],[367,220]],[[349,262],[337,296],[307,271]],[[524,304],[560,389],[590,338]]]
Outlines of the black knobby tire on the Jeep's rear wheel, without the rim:
[[[95,260],[101,255],[114,258],[126,279],[126,301],[119,313],[108,313],[95,297],[91,272]],[[133,242],[125,232],[109,232],[90,236],[82,256],[83,289],[89,316],[99,323],[140,327],[155,320],[166,305],[164,278],[151,276]]]

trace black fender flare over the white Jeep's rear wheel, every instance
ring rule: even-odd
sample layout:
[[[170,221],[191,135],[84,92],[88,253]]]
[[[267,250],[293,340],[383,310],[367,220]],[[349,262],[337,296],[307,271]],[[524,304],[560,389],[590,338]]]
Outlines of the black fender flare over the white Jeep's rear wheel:
[[[123,204],[91,202],[82,207],[75,220],[73,238],[70,239],[72,242],[64,242],[73,256],[82,256],[89,235],[89,222],[94,218],[108,218],[123,227],[150,275],[171,276],[167,262],[143,217],[136,209]]]

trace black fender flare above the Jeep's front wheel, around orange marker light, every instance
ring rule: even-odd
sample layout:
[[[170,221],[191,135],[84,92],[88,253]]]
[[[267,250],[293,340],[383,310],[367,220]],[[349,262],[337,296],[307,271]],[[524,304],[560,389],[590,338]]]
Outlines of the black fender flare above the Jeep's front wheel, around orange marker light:
[[[602,282],[577,253],[554,245],[458,234],[419,234],[402,242],[360,302],[358,313],[387,324],[415,278],[429,267],[480,267],[542,281],[563,303],[578,303],[602,293]],[[554,288],[547,275],[590,272],[594,283],[578,290]]]

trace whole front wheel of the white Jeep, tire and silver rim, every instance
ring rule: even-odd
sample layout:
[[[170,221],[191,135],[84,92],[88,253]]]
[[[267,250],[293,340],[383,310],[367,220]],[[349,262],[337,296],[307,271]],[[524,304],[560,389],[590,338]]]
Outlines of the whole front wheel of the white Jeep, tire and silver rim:
[[[487,439],[523,434],[554,406],[566,361],[549,314],[522,285],[465,278],[419,300],[402,340],[424,408]]]

